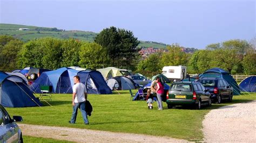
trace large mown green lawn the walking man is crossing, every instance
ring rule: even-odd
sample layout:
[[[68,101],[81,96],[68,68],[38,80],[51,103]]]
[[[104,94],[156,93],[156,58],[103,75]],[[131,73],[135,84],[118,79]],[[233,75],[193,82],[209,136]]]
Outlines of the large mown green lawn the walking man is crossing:
[[[23,117],[24,124],[63,126],[104,130],[112,132],[138,133],[199,141],[203,139],[202,121],[211,109],[234,103],[248,102],[256,99],[256,94],[234,96],[233,102],[213,104],[201,110],[188,108],[157,110],[157,103],[153,103],[154,110],[148,110],[145,101],[130,101],[129,90],[119,91],[112,95],[88,95],[93,106],[90,125],[84,125],[79,111],[76,124],[69,124],[72,113],[71,94],[53,94],[52,106],[44,103],[42,108],[6,108],[11,116]],[[133,93],[136,90],[133,90]],[[39,96],[39,95],[36,95]]]

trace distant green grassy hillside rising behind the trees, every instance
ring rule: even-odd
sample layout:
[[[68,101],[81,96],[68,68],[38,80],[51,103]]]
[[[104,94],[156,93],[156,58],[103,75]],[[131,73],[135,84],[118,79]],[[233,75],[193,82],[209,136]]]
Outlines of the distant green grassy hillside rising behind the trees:
[[[28,31],[21,31],[19,28],[29,28]],[[1,24],[0,23],[0,35],[11,35],[12,37],[21,39],[22,41],[29,41],[31,39],[54,37],[59,39],[75,38],[82,41],[92,42],[98,33],[87,31],[63,31],[57,28],[49,27],[37,27],[17,24]],[[166,48],[165,44],[157,42],[140,41],[139,47],[155,47]]]

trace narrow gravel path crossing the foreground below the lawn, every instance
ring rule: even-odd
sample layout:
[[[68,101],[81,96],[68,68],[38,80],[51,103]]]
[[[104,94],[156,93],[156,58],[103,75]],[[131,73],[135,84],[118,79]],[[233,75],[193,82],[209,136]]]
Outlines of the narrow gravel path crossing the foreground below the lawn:
[[[187,142],[186,140],[152,135],[114,133],[69,127],[18,124],[23,135],[75,142]]]

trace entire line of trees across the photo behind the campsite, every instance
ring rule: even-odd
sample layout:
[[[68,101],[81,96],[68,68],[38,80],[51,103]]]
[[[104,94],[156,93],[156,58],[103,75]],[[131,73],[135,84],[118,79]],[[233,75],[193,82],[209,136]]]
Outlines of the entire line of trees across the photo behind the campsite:
[[[164,66],[182,65],[187,66],[190,74],[219,67],[231,74],[256,75],[255,39],[252,42],[235,39],[210,44],[194,53],[182,52],[179,44],[172,44],[167,46],[169,52],[151,54],[143,60],[139,55],[138,38],[132,31],[113,26],[102,30],[94,42],[50,37],[23,42],[0,35],[0,70],[112,66],[152,76],[161,73]]]

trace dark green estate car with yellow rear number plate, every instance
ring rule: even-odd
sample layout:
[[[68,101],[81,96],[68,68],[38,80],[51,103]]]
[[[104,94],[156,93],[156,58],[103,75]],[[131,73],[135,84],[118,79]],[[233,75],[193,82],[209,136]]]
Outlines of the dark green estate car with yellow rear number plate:
[[[201,109],[201,105],[212,105],[211,94],[200,82],[174,82],[166,95],[169,109],[176,105],[190,105]]]

